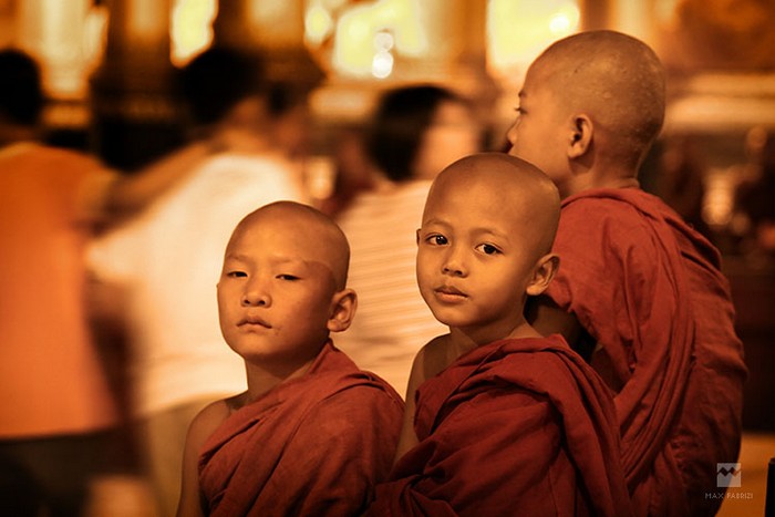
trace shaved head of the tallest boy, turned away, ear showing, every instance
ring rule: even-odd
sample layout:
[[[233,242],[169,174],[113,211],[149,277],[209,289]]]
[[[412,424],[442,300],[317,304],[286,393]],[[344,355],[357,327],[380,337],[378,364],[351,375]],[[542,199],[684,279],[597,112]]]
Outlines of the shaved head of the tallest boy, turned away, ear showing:
[[[638,169],[664,117],[664,72],[634,38],[581,32],[530,65],[517,112],[509,154],[541,168],[562,197],[638,187]]]

